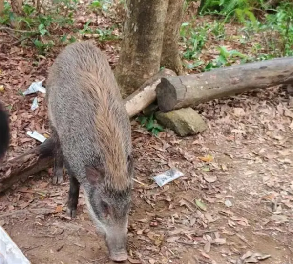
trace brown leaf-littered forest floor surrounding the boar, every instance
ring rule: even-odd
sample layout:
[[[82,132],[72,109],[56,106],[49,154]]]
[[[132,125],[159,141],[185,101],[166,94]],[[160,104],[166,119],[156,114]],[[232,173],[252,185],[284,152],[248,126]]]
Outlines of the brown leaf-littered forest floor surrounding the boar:
[[[84,23],[84,14],[76,18],[77,26]],[[11,34],[0,32],[0,39],[1,101],[10,111],[12,133],[9,159],[39,144],[28,130],[49,134],[43,94],[19,91],[46,77],[59,49],[44,57],[29,46],[11,45]],[[115,66],[119,46],[98,44]],[[40,107],[31,111],[35,96]],[[136,170],[129,263],[293,264],[292,95],[272,87],[196,110],[208,129],[186,138],[170,131],[155,137],[132,121]],[[184,176],[158,187],[152,176],[171,167]],[[64,212],[68,177],[54,186],[51,176],[52,168],[1,195],[0,225],[32,264],[111,263],[83,193],[71,220]]]

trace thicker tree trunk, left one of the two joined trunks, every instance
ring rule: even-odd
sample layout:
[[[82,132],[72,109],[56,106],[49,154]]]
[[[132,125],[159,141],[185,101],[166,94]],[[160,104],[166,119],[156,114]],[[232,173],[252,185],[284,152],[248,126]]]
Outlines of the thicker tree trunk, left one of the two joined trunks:
[[[123,98],[159,71],[168,0],[127,0],[116,80]]]

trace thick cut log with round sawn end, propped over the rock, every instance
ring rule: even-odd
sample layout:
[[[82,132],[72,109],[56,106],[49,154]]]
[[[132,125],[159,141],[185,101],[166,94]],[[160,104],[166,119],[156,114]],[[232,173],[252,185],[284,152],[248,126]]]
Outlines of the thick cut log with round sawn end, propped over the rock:
[[[156,94],[159,109],[168,112],[257,88],[290,83],[293,83],[293,57],[162,78]]]

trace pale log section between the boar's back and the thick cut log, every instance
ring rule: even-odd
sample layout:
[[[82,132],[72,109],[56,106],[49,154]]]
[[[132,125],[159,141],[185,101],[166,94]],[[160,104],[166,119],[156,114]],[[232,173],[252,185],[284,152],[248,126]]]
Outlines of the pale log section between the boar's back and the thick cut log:
[[[176,76],[176,73],[169,69],[163,69],[146,81],[141,88],[124,99],[124,106],[129,117],[138,114],[156,100],[155,89],[162,77]]]

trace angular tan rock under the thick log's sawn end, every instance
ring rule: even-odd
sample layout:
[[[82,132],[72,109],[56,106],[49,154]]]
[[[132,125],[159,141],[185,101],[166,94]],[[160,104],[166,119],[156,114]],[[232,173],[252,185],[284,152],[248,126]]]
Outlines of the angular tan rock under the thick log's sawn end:
[[[180,136],[197,134],[207,129],[202,117],[190,107],[167,113],[157,112],[156,119]]]

